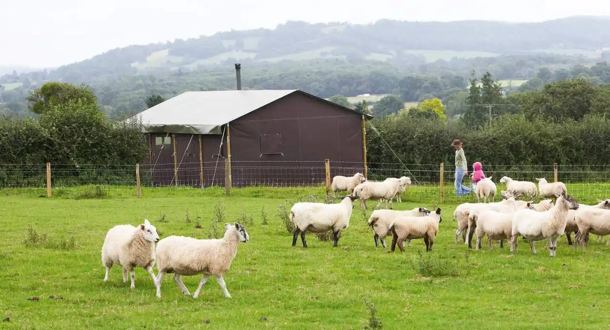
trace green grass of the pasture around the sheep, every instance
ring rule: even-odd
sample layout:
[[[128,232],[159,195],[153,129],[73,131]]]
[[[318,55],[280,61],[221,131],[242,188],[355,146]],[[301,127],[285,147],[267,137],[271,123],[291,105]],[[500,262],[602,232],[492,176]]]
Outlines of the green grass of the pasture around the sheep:
[[[562,238],[554,259],[545,242],[537,243],[538,255],[523,243],[515,255],[497,245],[468,251],[454,241],[453,199],[440,205],[443,221],[432,252],[414,240],[404,253],[387,254],[375,248],[365,223],[370,210],[363,215],[357,206],[339,247],[312,234],[307,249],[300,242],[291,247],[279,206],[288,205],[286,198],[321,198],[320,188],[232,189],[231,197],[217,188],[145,188],[139,199],[133,188],[108,187],[103,198],[90,191],[72,188],[71,194],[40,198],[44,189],[0,190],[3,328],[464,329],[478,328],[481,320],[495,329],[610,325],[606,245],[592,239],[582,253]],[[422,195],[420,202],[409,202],[418,195],[407,191],[395,208],[439,206],[434,194]],[[246,226],[250,242],[239,245],[224,276],[233,298],[224,298],[210,279],[193,300],[166,276],[157,300],[142,269],[136,270],[134,290],[116,267],[110,282],[102,281],[100,249],[113,225],[146,218],[162,237],[207,237],[210,219],[219,214],[226,222],[252,222]],[[193,292],[199,279],[187,276],[184,283]]]

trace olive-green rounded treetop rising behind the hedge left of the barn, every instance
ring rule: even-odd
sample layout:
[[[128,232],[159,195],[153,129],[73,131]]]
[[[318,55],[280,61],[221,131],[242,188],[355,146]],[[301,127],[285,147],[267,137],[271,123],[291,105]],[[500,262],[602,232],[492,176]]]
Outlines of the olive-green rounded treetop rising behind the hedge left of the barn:
[[[74,86],[64,82],[48,82],[36,88],[26,98],[30,102],[29,110],[42,114],[57,104],[68,104],[70,101],[79,100],[85,107],[87,105],[98,106],[98,99],[93,91],[85,84]]]

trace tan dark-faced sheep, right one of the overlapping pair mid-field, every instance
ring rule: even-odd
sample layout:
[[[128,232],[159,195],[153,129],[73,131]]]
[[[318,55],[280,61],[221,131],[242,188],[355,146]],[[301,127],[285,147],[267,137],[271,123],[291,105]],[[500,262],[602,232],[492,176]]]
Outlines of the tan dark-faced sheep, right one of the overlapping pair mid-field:
[[[392,249],[388,253],[396,250],[396,245],[401,252],[404,251],[403,242],[406,239],[420,239],[426,244],[426,251],[432,250],[434,237],[439,233],[439,223],[442,222],[440,208],[430,212],[425,217],[399,217],[392,226]]]

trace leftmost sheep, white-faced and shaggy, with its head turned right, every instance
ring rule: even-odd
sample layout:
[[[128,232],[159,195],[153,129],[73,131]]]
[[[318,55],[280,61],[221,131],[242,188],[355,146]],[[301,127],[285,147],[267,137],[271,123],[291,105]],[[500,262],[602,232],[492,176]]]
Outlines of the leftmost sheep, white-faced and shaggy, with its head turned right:
[[[131,275],[131,289],[135,288],[135,267],[146,269],[156,284],[152,271],[155,242],[159,242],[159,234],[148,219],[137,227],[117,225],[110,228],[102,245],[102,264],[106,267],[104,282],[109,281],[110,268],[117,264],[123,267],[123,283],[127,282],[127,272]]]

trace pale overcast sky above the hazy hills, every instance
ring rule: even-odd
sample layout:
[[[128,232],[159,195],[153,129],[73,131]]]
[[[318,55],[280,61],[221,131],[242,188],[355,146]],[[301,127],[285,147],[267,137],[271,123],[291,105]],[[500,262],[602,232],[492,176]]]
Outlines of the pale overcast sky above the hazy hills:
[[[130,44],[273,28],[285,21],[535,22],[610,15],[601,0],[2,0],[0,65],[59,66]]]

